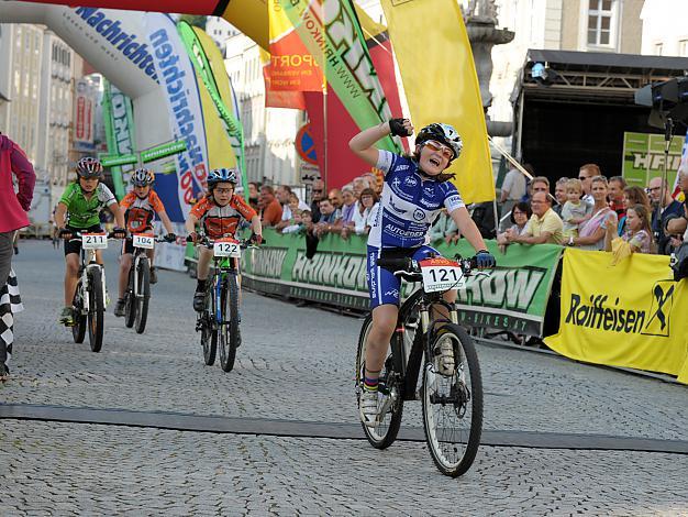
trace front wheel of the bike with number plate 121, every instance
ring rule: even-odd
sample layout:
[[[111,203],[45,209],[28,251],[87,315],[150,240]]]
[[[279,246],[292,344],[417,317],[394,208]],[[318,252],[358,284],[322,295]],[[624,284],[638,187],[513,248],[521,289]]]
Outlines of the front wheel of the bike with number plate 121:
[[[482,433],[482,378],[475,345],[468,333],[456,324],[445,324],[433,339],[454,345],[455,372],[435,373],[433,359],[423,367],[423,427],[432,459],[440,471],[456,477],[476,458]]]

